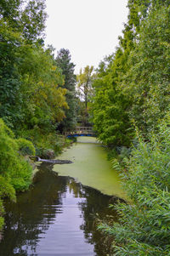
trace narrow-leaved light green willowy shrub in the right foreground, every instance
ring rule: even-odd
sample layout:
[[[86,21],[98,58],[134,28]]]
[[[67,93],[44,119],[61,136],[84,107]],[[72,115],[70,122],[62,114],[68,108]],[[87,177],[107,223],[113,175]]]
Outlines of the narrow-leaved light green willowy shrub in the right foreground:
[[[159,133],[150,135],[150,143],[139,138],[138,148],[132,151],[127,171],[122,174],[131,204],[116,206],[120,223],[100,226],[114,237],[115,255],[169,255],[169,155],[167,117],[159,126]]]

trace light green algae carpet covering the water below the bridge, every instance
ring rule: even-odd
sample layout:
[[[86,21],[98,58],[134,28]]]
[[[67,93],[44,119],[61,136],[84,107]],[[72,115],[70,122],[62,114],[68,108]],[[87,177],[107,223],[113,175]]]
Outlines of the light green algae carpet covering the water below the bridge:
[[[101,191],[108,196],[126,198],[121,180],[116,170],[111,168],[105,149],[94,137],[79,137],[77,144],[71,146],[56,159],[71,160],[71,164],[55,164],[53,170],[60,176],[70,176]]]

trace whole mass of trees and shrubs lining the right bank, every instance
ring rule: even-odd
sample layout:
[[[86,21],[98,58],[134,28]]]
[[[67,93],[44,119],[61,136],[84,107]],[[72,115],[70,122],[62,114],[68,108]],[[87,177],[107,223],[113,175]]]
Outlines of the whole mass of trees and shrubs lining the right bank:
[[[128,1],[116,53],[95,72],[94,128],[111,149],[129,204],[101,224],[114,255],[170,255],[170,3]],[[136,131],[138,131],[138,133]]]

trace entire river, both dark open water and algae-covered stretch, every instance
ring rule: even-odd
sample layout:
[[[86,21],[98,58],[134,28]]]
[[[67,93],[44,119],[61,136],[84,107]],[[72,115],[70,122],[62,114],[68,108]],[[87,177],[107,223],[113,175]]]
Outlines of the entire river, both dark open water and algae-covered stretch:
[[[81,138],[59,159],[73,163],[42,162],[30,190],[5,203],[1,256],[112,255],[96,219],[117,221],[108,205],[124,193],[105,149],[94,138]]]

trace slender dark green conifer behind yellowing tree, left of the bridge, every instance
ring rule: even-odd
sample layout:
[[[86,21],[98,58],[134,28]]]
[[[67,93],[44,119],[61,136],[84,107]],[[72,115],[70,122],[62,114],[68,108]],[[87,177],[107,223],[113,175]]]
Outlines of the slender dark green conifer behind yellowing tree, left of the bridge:
[[[66,89],[65,99],[69,107],[65,110],[65,119],[59,123],[59,130],[63,132],[66,129],[75,128],[77,124],[77,77],[74,74],[75,65],[71,62],[71,54],[68,49],[61,48],[55,62],[64,75],[65,82],[60,86]]]

